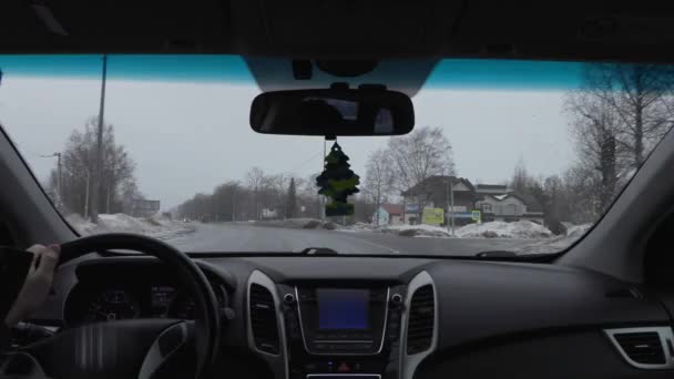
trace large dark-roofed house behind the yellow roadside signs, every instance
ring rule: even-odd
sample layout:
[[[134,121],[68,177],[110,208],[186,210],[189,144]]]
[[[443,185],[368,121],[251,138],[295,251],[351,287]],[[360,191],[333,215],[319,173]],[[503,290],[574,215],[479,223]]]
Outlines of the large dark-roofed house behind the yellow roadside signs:
[[[402,192],[406,224],[420,224],[423,208],[442,208],[448,215],[452,193],[455,225],[471,223],[471,211],[478,199],[472,183],[463,177],[433,175]]]

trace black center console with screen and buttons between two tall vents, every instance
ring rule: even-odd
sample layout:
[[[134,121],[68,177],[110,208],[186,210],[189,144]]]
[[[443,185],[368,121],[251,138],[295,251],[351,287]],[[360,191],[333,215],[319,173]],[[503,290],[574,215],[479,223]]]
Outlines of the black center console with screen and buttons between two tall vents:
[[[310,284],[279,289],[290,378],[398,378],[401,287]]]

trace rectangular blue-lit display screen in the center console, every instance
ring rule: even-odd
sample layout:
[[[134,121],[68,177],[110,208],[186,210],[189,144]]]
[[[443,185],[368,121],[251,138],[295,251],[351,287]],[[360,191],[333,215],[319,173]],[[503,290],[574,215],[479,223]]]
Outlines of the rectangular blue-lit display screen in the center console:
[[[318,329],[366,330],[370,328],[368,289],[317,288]]]

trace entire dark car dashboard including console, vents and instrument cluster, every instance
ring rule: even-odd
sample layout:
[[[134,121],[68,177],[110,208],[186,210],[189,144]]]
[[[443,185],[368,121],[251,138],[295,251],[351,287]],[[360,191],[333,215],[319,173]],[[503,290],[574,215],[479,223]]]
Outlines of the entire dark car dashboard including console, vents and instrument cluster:
[[[229,317],[223,375],[246,378],[670,378],[672,319],[646,288],[552,264],[410,257],[194,259]],[[157,260],[62,266],[64,328],[193,318]],[[193,304],[193,303],[192,303]]]

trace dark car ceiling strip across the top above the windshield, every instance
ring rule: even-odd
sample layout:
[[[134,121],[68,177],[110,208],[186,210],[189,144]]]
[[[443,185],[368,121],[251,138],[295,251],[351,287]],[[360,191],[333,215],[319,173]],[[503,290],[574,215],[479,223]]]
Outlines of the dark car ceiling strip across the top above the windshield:
[[[12,37],[0,41],[0,49],[12,53],[671,62],[667,47],[674,41],[674,7],[655,0],[304,0],[293,7],[273,0],[208,0],[194,7],[9,0],[0,17],[2,34]]]

